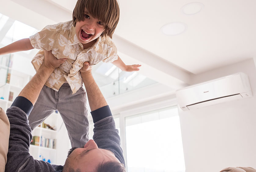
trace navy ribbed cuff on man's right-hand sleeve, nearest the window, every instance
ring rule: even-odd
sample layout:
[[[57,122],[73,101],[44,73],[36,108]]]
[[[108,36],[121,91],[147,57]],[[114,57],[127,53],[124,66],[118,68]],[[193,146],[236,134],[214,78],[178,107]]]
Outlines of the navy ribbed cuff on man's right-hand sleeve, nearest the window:
[[[106,117],[112,116],[112,113],[108,105],[92,111],[91,114],[92,114],[93,123],[96,123],[99,120],[104,119]]]

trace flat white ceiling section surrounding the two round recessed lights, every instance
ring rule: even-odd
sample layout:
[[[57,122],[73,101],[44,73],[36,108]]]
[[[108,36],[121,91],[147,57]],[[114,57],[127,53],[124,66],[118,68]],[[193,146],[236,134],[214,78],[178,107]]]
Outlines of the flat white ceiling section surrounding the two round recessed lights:
[[[255,0],[199,0],[201,12],[185,15],[191,0],[120,0],[116,34],[193,74],[256,55]],[[161,26],[184,22],[187,30],[166,36]]]

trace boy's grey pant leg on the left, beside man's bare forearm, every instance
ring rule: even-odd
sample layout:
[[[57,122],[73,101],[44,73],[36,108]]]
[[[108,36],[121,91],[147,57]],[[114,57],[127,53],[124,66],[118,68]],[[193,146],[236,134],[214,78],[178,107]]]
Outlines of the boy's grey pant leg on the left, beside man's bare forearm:
[[[54,110],[56,110],[56,104],[57,91],[44,85],[30,115],[28,116],[31,130],[41,124]]]

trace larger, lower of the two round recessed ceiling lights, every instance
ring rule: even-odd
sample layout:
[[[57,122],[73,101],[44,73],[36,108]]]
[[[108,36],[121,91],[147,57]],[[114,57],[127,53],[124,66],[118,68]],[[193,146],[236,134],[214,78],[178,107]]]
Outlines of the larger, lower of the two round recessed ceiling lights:
[[[172,22],[161,27],[161,31],[166,35],[178,35],[183,33],[187,28],[187,25],[182,22]]]

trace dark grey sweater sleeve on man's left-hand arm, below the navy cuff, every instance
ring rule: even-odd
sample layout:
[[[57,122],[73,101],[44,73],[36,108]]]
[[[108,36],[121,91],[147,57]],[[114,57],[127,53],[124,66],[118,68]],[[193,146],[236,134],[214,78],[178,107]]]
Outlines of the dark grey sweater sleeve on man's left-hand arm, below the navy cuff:
[[[10,122],[10,137],[5,172],[55,171],[50,163],[34,160],[29,153],[32,134],[27,114],[21,108],[11,106],[6,115]]]

